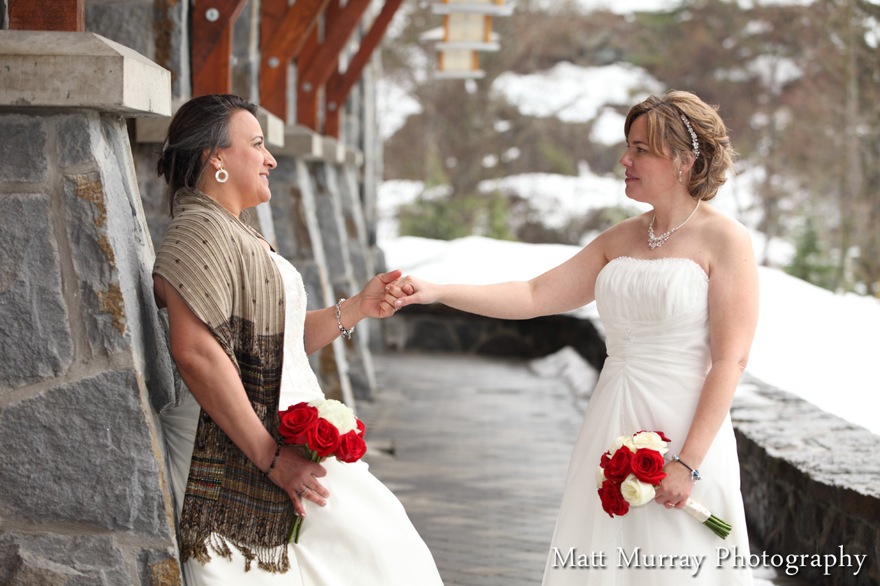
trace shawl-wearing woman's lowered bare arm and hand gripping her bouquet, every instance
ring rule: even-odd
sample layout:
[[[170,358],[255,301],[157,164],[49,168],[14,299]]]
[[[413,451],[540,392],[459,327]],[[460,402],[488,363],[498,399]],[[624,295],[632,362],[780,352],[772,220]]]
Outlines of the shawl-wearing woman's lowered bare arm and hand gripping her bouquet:
[[[158,303],[168,307],[171,352],[180,376],[205,413],[238,449],[260,470],[268,471],[277,444],[253,411],[235,366],[177,292],[162,277],[154,276],[153,282]],[[284,447],[269,479],[290,494],[294,509],[303,516],[305,509],[297,492],[308,487],[304,498],[323,506],[329,493],[318,478],[325,474],[323,466],[308,461],[295,448]]]

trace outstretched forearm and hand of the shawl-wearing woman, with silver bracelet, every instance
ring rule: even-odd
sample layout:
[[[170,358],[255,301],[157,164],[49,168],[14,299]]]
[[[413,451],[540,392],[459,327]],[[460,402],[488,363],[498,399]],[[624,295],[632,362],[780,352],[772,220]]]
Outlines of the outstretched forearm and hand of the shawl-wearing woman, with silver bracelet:
[[[394,314],[394,297],[385,285],[400,278],[400,271],[376,275],[355,297],[340,304],[340,323],[350,330],[364,318],[387,318]],[[305,353],[312,355],[341,334],[336,322],[336,307],[307,311],[305,314]]]

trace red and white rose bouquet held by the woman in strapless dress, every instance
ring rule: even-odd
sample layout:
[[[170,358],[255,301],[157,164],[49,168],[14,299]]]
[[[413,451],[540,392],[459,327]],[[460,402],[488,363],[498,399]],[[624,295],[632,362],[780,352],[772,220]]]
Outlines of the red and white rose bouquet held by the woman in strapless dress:
[[[624,516],[629,507],[640,507],[655,496],[655,487],[666,478],[664,454],[669,438],[662,431],[640,431],[620,436],[599,458],[596,485],[602,509],[613,517]],[[730,524],[712,515],[699,502],[687,499],[686,513],[706,525],[720,538],[730,535]]]

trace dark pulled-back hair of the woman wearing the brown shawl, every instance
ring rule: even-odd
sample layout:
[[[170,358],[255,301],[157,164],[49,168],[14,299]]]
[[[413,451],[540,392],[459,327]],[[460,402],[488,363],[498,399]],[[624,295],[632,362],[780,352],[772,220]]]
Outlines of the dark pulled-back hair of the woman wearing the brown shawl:
[[[168,184],[165,202],[172,216],[178,189],[197,188],[205,172],[205,161],[217,150],[231,146],[229,121],[238,110],[257,115],[255,104],[229,93],[190,99],[174,114],[156,163],[156,173],[165,177]]]

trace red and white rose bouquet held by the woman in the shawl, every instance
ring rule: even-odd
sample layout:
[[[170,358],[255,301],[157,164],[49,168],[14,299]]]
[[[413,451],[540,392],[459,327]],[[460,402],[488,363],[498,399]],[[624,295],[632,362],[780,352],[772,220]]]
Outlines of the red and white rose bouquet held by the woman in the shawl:
[[[350,407],[335,399],[315,399],[297,403],[279,413],[278,431],[284,443],[303,446],[312,462],[334,456],[341,462],[356,462],[367,450],[363,443],[363,422]],[[299,543],[303,517],[297,516],[288,541]]]

